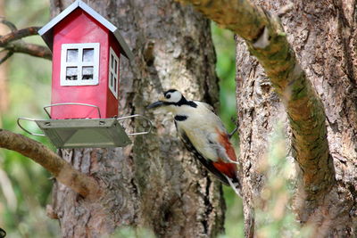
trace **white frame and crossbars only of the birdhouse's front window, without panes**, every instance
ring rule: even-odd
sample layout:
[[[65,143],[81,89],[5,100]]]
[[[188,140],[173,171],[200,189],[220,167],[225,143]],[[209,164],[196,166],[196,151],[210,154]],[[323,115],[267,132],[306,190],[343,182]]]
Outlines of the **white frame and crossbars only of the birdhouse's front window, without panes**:
[[[83,50],[87,48],[94,49],[93,62],[83,62]],[[67,62],[67,51],[70,49],[78,50],[78,61]],[[62,44],[61,49],[61,86],[87,86],[99,84],[99,43],[79,43]],[[82,69],[86,66],[93,67],[93,79],[82,79]],[[77,80],[66,80],[67,67],[77,67]]]

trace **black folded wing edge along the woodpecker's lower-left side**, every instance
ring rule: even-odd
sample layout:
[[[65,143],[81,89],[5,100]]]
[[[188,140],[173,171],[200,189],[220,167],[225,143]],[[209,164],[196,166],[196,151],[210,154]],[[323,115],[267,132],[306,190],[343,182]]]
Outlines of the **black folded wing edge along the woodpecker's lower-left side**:
[[[176,125],[176,123],[175,123]],[[177,126],[176,126],[177,127]],[[178,128],[178,127],[177,127]],[[210,171],[214,176],[216,176],[218,179],[220,179],[220,181],[225,184],[225,185],[229,185],[228,183],[228,178],[227,176],[224,176],[222,174],[222,172],[220,172],[220,170],[218,168],[216,168],[213,165],[213,161],[212,160],[207,160],[203,157],[203,155],[198,152],[195,149],[195,146],[191,143],[190,139],[188,138],[187,134],[185,133],[184,130],[179,130],[179,137],[181,138],[182,142],[185,144],[187,150],[189,152],[193,152],[195,154],[195,158],[197,160],[199,160],[201,162],[201,164],[208,170]]]

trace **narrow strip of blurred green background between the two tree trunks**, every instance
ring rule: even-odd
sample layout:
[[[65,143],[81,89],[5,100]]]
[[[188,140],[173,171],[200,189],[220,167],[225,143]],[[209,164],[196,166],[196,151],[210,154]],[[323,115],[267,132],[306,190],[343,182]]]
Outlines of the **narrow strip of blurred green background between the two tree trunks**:
[[[212,22],[212,38],[217,54],[216,71],[220,78],[220,119],[232,131],[235,128],[231,119],[237,118],[236,103],[236,43],[234,35],[228,29],[220,29]],[[234,136],[232,144],[238,144]],[[239,148],[235,146],[239,152]],[[220,238],[244,237],[244,220],[242,200],[228,186],[223,186],[224,197],[227,203],[225,228],[226,233]]]

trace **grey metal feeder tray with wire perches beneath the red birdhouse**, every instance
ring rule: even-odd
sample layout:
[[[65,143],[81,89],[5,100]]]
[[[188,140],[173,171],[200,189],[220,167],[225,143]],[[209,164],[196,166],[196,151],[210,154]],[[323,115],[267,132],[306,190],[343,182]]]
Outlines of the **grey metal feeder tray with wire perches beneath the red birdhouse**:
[[[44,109],[46,111],[46,107]],[[127,134],[124,128],[121,127],[120,120],[132,118],[145,119],[150,126],[149,130]],[[36,122],[44,134],[30,132],[21,125],[21,120]],[[57,148],[124,147],[131,144],[128,135],[145,135],[150,133],[152,129],[151,121],[138,114],[110,119],[19,118],[17,122],[19,127],[30,135],[47,136]]]

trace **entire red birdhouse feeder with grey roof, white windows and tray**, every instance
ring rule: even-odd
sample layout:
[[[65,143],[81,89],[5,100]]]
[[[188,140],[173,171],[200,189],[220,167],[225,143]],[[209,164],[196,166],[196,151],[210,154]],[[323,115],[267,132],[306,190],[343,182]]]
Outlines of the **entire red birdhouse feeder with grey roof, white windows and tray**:
[[[77,0],[38,34],[52,50],[53,72],[52,103],[44,108],[50,119],[34,120],[37,126],[59,148],[129,144],[120,120],[145,117],[118,118],[120,56],[134,57],[119,29]]]

